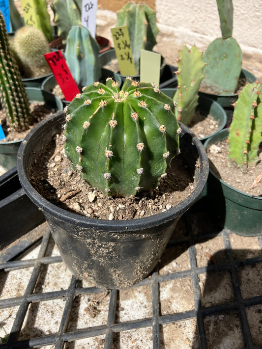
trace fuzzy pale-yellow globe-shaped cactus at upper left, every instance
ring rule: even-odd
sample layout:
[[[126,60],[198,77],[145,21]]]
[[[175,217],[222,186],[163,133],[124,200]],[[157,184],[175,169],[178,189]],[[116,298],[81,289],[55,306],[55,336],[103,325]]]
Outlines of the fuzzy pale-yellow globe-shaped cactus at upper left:
[[[43,32],[35,27],[21,27],[12,40],[12,49],[18,56],[18,64],[22,64],[25,78],[36,78],[50,74],[51,70],[44,54],[50,52],[47,39]]]

